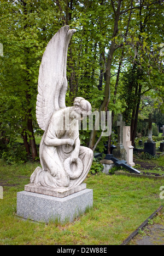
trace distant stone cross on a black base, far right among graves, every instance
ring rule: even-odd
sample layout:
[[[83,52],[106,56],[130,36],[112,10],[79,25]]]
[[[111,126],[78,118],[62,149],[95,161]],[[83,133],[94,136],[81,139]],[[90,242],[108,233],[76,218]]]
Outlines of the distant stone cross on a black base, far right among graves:
[[[145,122],[148,122],[148,141],[144,143],[144,152],[147,152],[151,155],[156,154],[156,143],[152,139],[152,123],[156,122],[156,119],[152,119],[151,114],[149,114],[148,119],[144,119]]]

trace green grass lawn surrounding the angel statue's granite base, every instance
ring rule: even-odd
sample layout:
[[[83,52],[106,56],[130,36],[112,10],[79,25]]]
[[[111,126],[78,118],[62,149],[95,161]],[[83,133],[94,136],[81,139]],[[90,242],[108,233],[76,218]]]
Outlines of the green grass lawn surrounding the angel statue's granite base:
[[[159,163],[159,162],[157,162]],[[158,164],[156,164],[158,165]],[[164,199],[164,180],[97,174],[86,178],[93,189],[93,208],[72,223],[49,224],[16,215],[16,193],[24,190],[37,163],[0,162],[0,244],[121,244]]]

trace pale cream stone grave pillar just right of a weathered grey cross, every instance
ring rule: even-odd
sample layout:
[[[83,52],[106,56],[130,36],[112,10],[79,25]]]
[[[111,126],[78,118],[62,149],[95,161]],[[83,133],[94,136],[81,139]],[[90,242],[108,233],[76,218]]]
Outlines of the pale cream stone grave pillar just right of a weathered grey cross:
[[[131,126],[123,126],[123,135],[122,135],[122,144],[124,148],[126,149],[126,154],[127,154],[127,164],[130,166],[134,166],[135,164],[133,163],[133,146],[131,142]]]

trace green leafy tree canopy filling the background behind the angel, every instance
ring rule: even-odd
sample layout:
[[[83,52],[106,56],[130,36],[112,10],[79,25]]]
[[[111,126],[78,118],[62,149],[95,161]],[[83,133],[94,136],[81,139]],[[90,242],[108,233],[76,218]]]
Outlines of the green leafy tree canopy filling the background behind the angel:
[[[114,31],[115,10],[119,3],[118,27]],[[1,1],[0,43],[4,51],[0,56],[1,140],[13,139],[17,133],[26,133],[29,140],[29,120],[32,120],[33,129],[38,130],[36,96],[39,65],[46,44],[63,25],[77,29],[68,49],[67,105],[72,105],[76,96],[83,96],[89,100],[93,111],[98,110],[104,98],[108,98],[106,89],[109,88],[108,108],[114,114],[124,112],[127,125],[140,97],[135,88],[142,85],[141,93],[146,91],[160,102],[163,109],[163,57],[160,55],[163,12],[160,1],[143,1],[142,8],[133,1],[131,17],[129,1],[113,1],[113,4],[96,0]],[[107,62],[113,45],[109,70]],[[116,91],[121,58],[121,79]],[[106,87],[108,72],[110,83]],[[98,135],[97,132],[96,139]],[[81,131],[80,136],[82,144],[87,146],[90,132]],[[100,152],[103,151],[104,140],[102,138],[98,143]]]

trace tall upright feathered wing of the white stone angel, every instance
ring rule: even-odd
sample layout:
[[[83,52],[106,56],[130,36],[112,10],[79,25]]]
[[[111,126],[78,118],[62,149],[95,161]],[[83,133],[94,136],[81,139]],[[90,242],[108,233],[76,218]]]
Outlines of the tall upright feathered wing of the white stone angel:
[[[52,37],[39,68],[36,116],[38,125],[45,130],[55,110],[66,107],[67,51],[74,29],[63,26]]]

